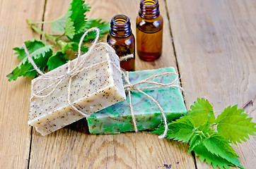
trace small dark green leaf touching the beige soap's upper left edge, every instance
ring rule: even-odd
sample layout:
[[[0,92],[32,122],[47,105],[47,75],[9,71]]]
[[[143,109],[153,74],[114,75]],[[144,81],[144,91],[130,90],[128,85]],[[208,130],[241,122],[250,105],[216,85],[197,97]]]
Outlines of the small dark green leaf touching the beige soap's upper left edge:
[[[48,69],[49,70],[54,70],[54,68],[58,68],[61,65],[64,65],[67,61],[69,61],[68,58],[65,57],[66,56],[66,52],[62,52],[62,51],[57,51],[54,55],[52,55],[48,61],[47,61],[47,65],[48,65]]]

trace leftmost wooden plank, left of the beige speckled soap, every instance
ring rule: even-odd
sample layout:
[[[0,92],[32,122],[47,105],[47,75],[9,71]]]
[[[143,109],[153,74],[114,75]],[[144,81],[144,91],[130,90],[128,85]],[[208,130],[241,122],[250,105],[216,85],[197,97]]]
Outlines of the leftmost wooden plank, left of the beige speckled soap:
[[[29,5],[28,5],[29,4]],[[30,79],[8,82],[6,75],[18,65],[13,47],[38,38],[25,19],[41,20],[44,1],[0,1],[0,168],[27,168],[30,128],[27,124]]]

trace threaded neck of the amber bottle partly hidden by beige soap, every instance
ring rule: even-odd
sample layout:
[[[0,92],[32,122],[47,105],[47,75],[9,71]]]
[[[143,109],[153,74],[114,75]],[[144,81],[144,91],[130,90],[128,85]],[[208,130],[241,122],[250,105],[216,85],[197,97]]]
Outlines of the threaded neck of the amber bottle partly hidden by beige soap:
[[[132,35],[131,23],[126,15],[115,15],[110,22],[112,37],[129,37]]]

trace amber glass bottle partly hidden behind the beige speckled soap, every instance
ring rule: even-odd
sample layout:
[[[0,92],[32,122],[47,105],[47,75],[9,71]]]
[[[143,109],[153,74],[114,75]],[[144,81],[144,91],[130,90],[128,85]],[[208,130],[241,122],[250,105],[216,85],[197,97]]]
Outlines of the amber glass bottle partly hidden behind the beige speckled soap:
[[[135,38],[132,34],[131,23],[126,15],[115,15],[110,22],[110,34],[107,43],[115,49],[117,56],[134,54],[134,58],[120,62],[124,70],[135,70]]]

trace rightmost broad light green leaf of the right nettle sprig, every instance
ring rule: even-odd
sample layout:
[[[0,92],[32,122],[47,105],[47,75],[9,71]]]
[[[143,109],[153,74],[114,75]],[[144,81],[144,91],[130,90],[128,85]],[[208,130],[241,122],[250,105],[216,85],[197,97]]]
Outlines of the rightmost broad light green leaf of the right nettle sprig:
[[[248,114],[242,112],[238,105],[228,106],[215,120],[218,132],[234,144],[241,143],[240,140],[245,142],[245,138],[250,139],[248,134],[255,135],[256,132],[256,123],[252,123],[252,118],[247,118]]]

